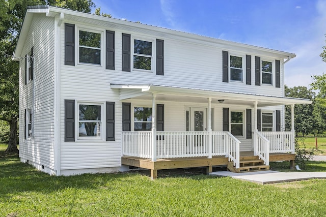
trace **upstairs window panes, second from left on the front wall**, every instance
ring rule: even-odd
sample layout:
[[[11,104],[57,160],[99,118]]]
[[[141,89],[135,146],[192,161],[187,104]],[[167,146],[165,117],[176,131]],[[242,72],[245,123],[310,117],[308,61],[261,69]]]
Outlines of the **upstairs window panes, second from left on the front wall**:
[[[152,42],[133,40],[133,69],[152,71]]]

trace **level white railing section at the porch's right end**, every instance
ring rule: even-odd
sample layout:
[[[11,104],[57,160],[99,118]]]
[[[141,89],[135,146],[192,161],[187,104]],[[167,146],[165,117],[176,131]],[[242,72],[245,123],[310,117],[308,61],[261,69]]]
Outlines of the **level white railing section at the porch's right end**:
[[[294,132],[260,132],[269,142],[269,153],[294,153]]]

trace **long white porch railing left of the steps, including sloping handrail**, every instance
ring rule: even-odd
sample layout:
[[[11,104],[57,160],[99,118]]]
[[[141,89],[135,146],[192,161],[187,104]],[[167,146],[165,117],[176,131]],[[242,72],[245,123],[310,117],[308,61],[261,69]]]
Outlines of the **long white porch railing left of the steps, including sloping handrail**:
[[[151,132],[122,132],[122,154],[150,159],[151,138]],[[156,132],[156,158],[227,156],[239,168],[239,151],[229,132]]]

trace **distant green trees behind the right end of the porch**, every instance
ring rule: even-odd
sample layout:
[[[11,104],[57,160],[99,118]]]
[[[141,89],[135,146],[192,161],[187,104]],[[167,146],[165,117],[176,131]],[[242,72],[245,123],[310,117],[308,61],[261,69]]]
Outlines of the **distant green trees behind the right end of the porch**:
[[[285,97],[314,99],[314,92],[305,86],[289,88],[285,85]],[[285,129],[291,129],[291,107],[285,106]],[[314,129],[313,105],[294,106],[294,130],[304,135],[311,133]]]

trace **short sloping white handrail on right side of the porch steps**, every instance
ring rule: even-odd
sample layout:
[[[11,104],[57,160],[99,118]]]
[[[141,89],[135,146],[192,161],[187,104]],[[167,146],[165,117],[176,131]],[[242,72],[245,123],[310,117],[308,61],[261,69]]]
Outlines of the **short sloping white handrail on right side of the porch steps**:
[[[264,161],[266,166],[269,165],[269,141],[261,135],[261,132],[254,132],[254,155]]]

